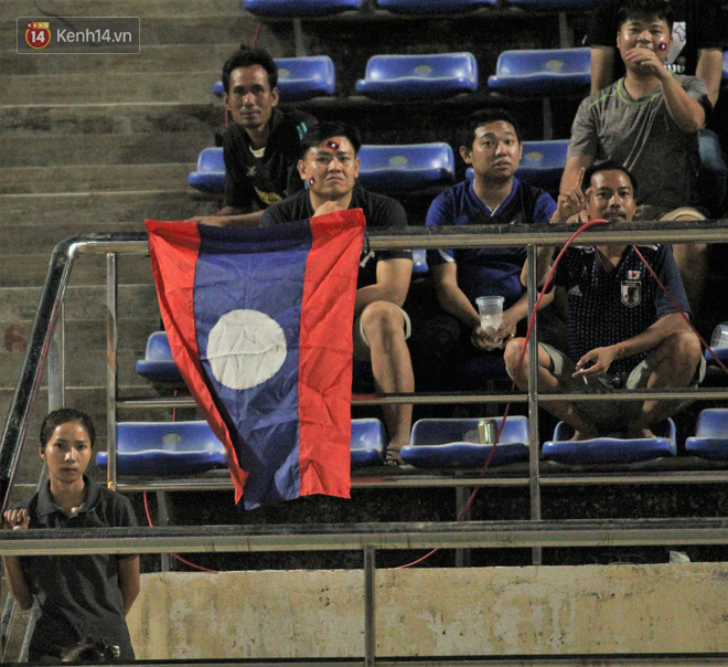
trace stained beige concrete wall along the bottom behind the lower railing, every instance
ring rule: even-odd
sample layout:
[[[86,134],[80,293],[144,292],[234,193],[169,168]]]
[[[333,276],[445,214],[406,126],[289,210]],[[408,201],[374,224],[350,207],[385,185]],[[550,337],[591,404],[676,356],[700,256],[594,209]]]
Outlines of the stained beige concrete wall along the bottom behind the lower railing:
[[[350,657],[363,572],[146,574],[139,659]],[[377,655],[728,650],[728,563],[379,570]]]

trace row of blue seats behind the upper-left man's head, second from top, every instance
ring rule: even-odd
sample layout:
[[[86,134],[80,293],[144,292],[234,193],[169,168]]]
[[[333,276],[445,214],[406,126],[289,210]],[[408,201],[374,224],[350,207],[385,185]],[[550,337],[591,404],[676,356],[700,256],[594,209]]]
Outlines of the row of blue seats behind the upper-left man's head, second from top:
[[[334,95],[333,61],[328,55],[275,59],[283,102]],[[488,78],[494,92],[542,97],[586,94],[591,82],[589,49],[504,51],[495,74]],[[366,63],[356,92],[379,100],[432,99],[478,89],[478,63],[472,53],[374,55]],[[223,94],[223,82],[213,84]]]

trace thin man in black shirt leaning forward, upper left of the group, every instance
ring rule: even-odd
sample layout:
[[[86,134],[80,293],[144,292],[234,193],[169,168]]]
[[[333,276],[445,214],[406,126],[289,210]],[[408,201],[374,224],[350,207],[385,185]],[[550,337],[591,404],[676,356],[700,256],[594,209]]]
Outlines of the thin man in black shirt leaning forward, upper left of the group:
[[[225,203],[215,226],[257,226],[263,211],[303,189],[296,170],[301,138],[317,120],[278,107],[278,67],[265,51],[236,51],[223,67],[223,104],[233,123],[223,137]]]

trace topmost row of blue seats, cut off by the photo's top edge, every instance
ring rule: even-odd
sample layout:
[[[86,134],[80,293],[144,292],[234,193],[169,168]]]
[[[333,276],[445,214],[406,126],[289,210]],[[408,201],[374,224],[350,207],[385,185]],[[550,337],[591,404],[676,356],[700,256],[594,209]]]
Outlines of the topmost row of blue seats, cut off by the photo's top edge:
[[[600,0],[376,0],[376,7],[402,14],[468,12],[507,4],[525,10],[579,11],[595,8]],[[243,9],[259,17],[322,17],[362,9],[365,0],[243,0]]]

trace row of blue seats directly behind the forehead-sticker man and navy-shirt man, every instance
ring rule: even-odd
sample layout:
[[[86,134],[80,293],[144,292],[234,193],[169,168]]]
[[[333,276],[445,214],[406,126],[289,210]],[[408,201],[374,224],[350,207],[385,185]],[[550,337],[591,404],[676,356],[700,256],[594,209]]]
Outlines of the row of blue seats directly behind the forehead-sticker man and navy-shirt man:
[[[555,191],[566,165],[568,144],[566,139],[524,141],[516,176],[532,186]],[[454,181],[454,155],[448,144],[364,145],[358,157],[358,180],[364,188],[376,192],[404,194]],[[200,192],[222,194],[225,191],[223,149],[203,149],[188,183]]]

